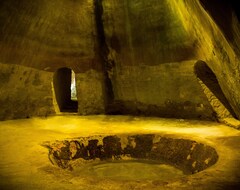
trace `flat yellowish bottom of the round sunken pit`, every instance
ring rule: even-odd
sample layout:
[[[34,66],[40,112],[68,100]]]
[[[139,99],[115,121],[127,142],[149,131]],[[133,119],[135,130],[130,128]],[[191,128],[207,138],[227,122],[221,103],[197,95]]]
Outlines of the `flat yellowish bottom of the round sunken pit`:
[[[84,176],[112,180],[169,180],[185,176],[181,170],[170,165],[146,161],[100,162],[78,172]]]

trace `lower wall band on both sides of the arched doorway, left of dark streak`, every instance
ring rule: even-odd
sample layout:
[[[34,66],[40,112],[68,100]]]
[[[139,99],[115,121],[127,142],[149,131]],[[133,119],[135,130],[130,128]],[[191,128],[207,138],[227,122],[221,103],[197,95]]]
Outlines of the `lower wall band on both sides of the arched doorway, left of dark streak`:
[[[53,75],[29,67],[0,64],[0,120],[59,114]],[[79,114],[104,113],[102,78],[94,70],[76,74]]]

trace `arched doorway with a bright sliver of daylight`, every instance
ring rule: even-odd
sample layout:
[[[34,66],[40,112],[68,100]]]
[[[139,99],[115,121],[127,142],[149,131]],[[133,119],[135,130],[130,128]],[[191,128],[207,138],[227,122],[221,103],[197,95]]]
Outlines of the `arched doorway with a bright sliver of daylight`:
[[[75,73],[69,68],[56,71],[53,78],[56,100],[61,112],[77,112]]]

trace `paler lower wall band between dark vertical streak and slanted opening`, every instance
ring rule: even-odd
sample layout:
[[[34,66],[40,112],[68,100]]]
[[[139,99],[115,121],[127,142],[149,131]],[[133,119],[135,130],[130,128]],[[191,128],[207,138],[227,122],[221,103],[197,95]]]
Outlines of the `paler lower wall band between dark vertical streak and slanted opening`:
[[[193,73],[195,61],[124,66],[115,88],[116,113],[213,119],[214,112]],[[120,73],[121,72],[121,73]]]

